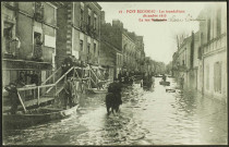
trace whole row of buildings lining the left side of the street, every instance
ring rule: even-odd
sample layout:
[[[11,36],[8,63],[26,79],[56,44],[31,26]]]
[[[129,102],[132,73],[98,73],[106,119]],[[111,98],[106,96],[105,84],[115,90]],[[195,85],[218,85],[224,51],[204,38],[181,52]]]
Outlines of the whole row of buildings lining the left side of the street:
[[[3,86],[32,71],[43,83],[68,56],[106,69],[110,78],[148,66],[143,36],[119,20],[106,23],[97,2],[2,2],[1,17]]]

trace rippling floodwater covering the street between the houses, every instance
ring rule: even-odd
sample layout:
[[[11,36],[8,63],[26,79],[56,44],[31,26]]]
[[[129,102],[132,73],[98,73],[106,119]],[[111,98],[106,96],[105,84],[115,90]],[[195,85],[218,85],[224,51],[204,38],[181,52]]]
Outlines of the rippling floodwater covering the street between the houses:
[[[107,117],[105,95],[81,99],[75,115],[3,134],[4,145],[227,145],[227,106],[197,93],[166,93],[160,78],[149,90],[122,91],[121,112]]]

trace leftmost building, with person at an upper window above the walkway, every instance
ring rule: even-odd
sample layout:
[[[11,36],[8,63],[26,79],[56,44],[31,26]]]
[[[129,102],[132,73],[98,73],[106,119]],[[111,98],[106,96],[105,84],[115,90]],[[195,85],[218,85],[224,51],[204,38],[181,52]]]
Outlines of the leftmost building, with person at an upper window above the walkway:
[[[39,83],[56,68],[57,9],[61,2],[2,2],[3,86],[37,71]],[[25,84],[31,84],[25,77]]]

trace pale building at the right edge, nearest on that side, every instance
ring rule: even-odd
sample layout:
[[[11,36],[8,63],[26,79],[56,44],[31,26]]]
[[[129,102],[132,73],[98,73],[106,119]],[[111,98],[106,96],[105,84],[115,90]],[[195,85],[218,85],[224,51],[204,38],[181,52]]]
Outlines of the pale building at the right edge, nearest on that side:
[[[227,7],[208,4],[198,15],[198,89],[206,96],[227,101]]]

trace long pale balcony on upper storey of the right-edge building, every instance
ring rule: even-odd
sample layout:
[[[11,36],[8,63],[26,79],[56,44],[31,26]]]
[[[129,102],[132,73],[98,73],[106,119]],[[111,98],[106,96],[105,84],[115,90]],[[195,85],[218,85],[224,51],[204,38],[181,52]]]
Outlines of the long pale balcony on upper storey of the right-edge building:
[[[203,56],[212,54],[226,49],[227,35],[221,34],[219,37],[212,39],[203,45]]]

